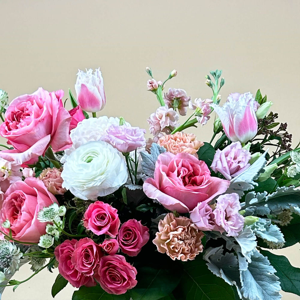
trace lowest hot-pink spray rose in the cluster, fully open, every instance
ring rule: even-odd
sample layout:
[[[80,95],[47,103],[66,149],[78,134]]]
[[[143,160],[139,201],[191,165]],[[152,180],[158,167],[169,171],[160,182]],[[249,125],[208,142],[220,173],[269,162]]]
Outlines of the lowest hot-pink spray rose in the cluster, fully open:
[[[103,256],[98,273],[94,275],[102,289],[109,294],[121,295],[137,285],[137,270],[122,255]]]

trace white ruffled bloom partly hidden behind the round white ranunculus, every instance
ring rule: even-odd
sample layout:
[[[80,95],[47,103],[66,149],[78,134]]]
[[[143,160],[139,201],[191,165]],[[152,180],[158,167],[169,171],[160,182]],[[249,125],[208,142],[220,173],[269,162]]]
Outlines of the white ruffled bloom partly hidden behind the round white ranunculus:
[[[77,127],[71,130],[70,138],[73,145],[64,151],[64,156],[60,160],[61,163],[64,164],[67,157],[78,147],[90,141],[99,141],[106,134],[110,125],[119,125],[119,122],[119,118],[108,118],[107,116],[84,119],[79,122]],[[125,124],[130,126],[128,122],[125,122]]]

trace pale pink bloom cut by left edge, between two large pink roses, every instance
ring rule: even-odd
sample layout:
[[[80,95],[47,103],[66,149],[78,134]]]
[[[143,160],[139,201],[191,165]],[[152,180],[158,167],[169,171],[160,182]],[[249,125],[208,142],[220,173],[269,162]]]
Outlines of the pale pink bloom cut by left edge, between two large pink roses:
[[[22,180],[21,166],[0,157],[0,190],[6,192],[10,184]]]

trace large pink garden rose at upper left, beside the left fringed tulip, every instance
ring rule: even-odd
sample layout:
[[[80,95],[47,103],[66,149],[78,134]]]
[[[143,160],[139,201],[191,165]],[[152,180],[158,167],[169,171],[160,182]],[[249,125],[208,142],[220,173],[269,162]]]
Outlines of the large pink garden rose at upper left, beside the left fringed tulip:
[[[63,107],[63,95],[62,90],[49,93],[39,88],[31,95],[15,98],[0,126],[0,135],[14,149],[1,151],[0,156],[18,164],[32,163],[50,145],[53,151],[69,148],[71,116]]]

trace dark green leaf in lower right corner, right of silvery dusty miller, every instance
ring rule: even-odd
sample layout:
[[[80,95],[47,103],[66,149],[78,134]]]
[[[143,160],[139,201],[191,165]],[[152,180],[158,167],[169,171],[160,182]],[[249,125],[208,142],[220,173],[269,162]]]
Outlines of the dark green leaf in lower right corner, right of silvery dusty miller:
[[[293,267],[289,260],[282,255],[275,255],[266,250],[260,250],[275,268],[276,276],[279,277],[281,289],[285,292],[300,296],[300,268]]]

